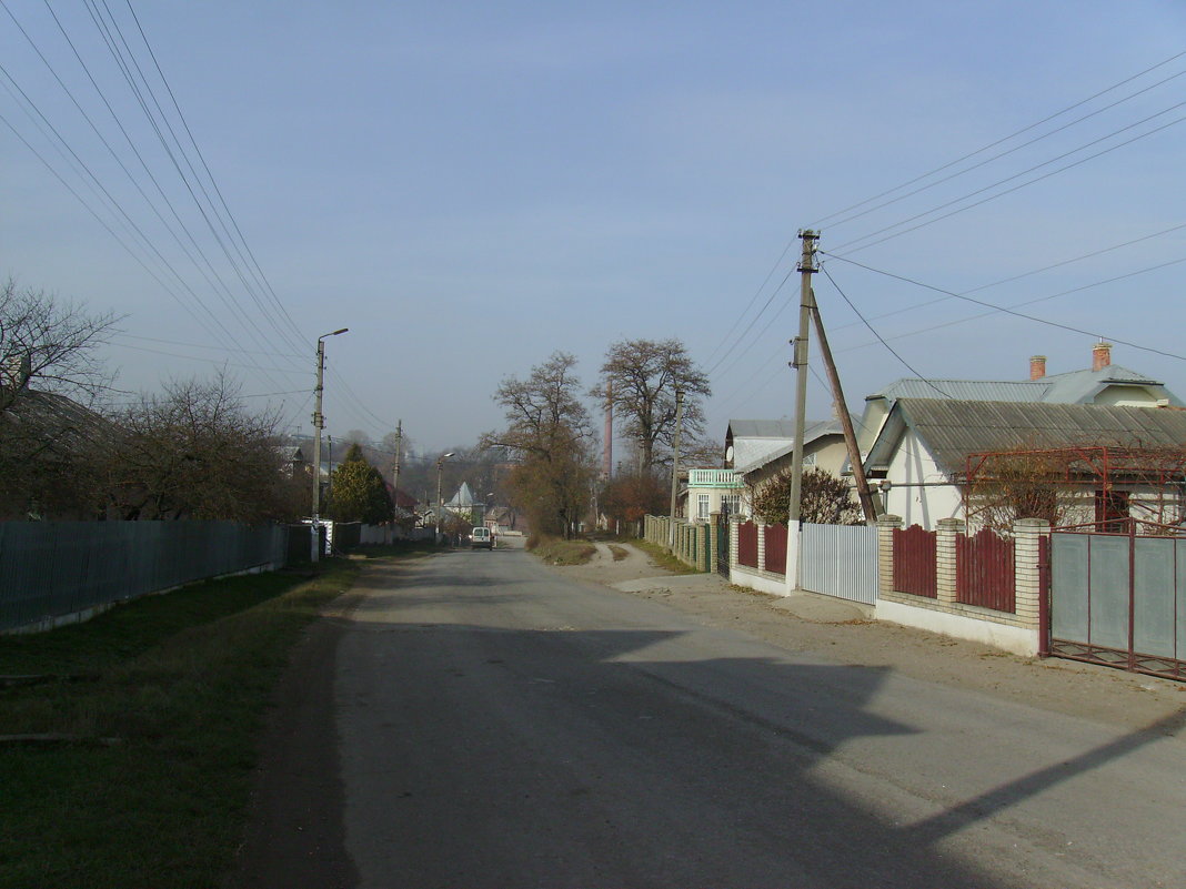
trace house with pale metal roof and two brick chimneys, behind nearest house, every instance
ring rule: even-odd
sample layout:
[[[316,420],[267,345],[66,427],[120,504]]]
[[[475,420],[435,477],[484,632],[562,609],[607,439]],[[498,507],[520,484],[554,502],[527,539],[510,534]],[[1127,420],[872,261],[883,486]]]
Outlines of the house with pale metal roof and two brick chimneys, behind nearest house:
[[[952,398],[959,401],[1039,402],[1045,404],[1098,404],[1118,407],[1174,407],[1182,402],[1166,384],[1111,363],[1111,344],[1091,347],[1091,369],[1046,373],[1046,357],[1029,359],[1029,377],[1021,380],[898,379],[865,397],[865,412],[856,423],[861,454],[868,454],[890,411],[899,398]]]

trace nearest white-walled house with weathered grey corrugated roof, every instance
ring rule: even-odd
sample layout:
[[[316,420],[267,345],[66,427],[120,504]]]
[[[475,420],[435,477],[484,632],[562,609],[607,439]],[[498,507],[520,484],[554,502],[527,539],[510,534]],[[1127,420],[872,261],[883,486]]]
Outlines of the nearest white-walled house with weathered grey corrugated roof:
[[[1025,484],[1003,484],[1007,460],[1026,465]],[[1178,524],[1184,471],[1186,410],[1025,401],[899,397],[865,459],[885,512],[927,530],[943,518],[988,524],[994,490],[1015,511],[1034,510],[1037,492],[1067,524]]]

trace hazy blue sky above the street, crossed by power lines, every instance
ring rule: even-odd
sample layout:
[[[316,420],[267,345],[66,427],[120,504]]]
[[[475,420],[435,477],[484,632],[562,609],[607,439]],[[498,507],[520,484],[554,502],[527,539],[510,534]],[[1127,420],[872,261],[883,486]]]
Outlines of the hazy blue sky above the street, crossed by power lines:
[[[123,390],[227,363],[253,404],[307,433],[314,340],[347,326],[327,346],[329,430],[380,437],[402,418],[432,450],[499,426],[499,379],[554,350],[576,354],[592,385],[612,341],[676,337],[712,369],[707,412],[722,439],[729,417],[793,410],[797,276],[776,288],[793,270],[797,230],[822,220],[824,251],[956,292],[1099,254],[971,294],[1002,306],[1120,279],[1019,309],[1073,332],[1002,313],[969,321],[984,309],[920,305],[939,294],[827,260],[924,376],[1019,379],[1035,353],[1052,373],[1076,370],[1102,334],[1133,344],[1117,341],[1116,363],[1186,396],[1186,362],[1173,357],[1186,354],[1186,263],[1143,271],[1186,258],[1186,229],[1101,252],[1186,224],[1186,122],[1174,123],[1186,116],[1174,108],[1186,56],[1160,64],[1186,51],[1179,2],[133,2],[275,300],[222,256],[87,5],[53,7],[184,220],[181,241],[200,244],[197,264],[138,193],[172,222],[46,6],[5,7],[0,82],[13,91],[0,90],[0,116],[90,194],[23,110],[19,85],[185,281],[140,248],[171,295],[0,124],[0,274],[126,314],[107,350]],[[151,65],[126,0],[108,8]],[[1102,91],[906,190],[931,186],[917,194],[836,216]],[[872,232],[1108,148],[871,244],[882,237]],[[822,275],[816,293],[854,409],[913,376]],[[809,415],[829,412],[812,378]]]

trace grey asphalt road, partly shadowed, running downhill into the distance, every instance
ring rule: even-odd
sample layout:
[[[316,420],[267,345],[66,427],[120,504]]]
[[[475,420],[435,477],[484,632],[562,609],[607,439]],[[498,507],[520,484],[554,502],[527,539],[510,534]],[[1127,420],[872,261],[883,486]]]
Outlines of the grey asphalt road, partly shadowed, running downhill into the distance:
[[[509,550],[369,569],[302,658],[243,885],[1186,885],[1181,718],[829,663]]]

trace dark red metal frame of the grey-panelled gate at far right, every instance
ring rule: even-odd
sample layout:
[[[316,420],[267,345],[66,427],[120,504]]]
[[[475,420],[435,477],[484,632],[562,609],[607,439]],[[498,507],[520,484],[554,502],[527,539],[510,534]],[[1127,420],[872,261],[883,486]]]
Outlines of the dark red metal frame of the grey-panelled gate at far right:
[[[1179,546],[1174,545],[1173,551],[1173,622],[1174,622],[1174,647],[1178,657],[1162,654],[1149,654],[1137,650],[1137,588],[1140,578],[1137,576],[1137,543],[1147,539],[1161,541],[1186,541],[1186,529],[1177,525],[1160,525],[1140,519],[1124,519],[1126,531],[1098,531],[1098,523],[1086,523],[1082,525],[1067,525],[1052,529],[1050,545],[1042,548],[1039,569],[1041,571],[1042,596],[1040,599],[1039,621],[1041,625],[1041,642],[1039,654],[1066,658],[1069,660],[1082,660],[1089,664],[1102,664],[1104,666],[1128,670],[1130,672],[1148,673],[1168,679],[1186,680],[1186,652],[1182,646],[1186,639],[1179,632],[1184,623],[1182,610],[1186,609],[1186,584],[1180,583],[1180,577],[1186,575],[1186,559],[1179,556]],[[1154,530],[1152,535],[1136,533],[1139,526],[1148,526]],[[1092,639],[1092,583],[1090,562],[1085,569],[1088,583],[1088,631],[1086,639],[1060,639],[1054,637],[1054,620],[1058,602],[1054,599],[1057,578],[1054,576],[1054,535],[1084,535],[1088,537],[1088,554],[1090,559],[1091,538],[1128,539],[1128,612],[1127,612],[1127,646],[1097,644]],[[1044,542],[1045,543],[1045,542]]]

